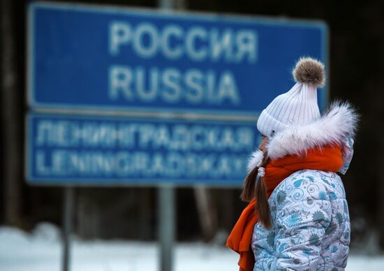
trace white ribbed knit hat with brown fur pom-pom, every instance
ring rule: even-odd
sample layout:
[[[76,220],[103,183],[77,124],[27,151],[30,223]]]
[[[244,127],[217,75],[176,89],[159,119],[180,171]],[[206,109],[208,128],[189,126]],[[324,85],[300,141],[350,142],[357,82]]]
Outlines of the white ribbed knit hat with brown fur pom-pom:
[[[292,73],[295,86],[274,98],[258,118],[258,130],[267,137],[286,127],[304,125],[320,118],[316,88],[325,82],[323,63],[302,58]]]

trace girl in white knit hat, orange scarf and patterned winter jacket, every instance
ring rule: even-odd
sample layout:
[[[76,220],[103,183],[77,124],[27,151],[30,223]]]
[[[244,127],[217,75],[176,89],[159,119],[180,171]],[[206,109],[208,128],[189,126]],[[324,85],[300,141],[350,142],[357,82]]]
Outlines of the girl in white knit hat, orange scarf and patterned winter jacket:
[[[350,222],[341,178],[353,154],[357,114],[334,102],[323,116],[317,87],[324,65],[300,59],[297,82],[258,118],[263,140],[249,160],[241,198],[251,201],[227,246],[241,271],[344,270]]]

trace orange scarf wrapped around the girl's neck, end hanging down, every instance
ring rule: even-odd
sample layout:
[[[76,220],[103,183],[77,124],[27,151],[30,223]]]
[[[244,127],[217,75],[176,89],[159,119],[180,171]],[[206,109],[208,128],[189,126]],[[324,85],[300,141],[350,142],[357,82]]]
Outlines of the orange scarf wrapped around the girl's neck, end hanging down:
[[[323,146],[308,150],[307,155],[286,155],[278,160],[271,160],[265,168],[265,185],[268,197],[274,188],[290,174],[300,169],[318,169],[321,171],[337,172],[343,164],[341,148],[337,145]],[[240,255],[240,271],[252,271],[255,258],[251,249],[253,227],[258,222],[255,212],[256,199],[253,199],[243,210],[237,223],[232,229],[227,247]]]

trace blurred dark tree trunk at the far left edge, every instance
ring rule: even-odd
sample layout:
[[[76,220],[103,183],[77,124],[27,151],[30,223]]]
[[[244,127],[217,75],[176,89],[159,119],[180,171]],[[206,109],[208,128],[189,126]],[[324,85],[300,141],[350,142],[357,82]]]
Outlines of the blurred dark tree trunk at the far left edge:
[[[1,110],[3,132],[3,184],[4,220],[11,226],[21,223],[22,139],[21,120],[17,108],[20,95],[15,52],[15,29],[13,27],[13,1],[1,1]]]

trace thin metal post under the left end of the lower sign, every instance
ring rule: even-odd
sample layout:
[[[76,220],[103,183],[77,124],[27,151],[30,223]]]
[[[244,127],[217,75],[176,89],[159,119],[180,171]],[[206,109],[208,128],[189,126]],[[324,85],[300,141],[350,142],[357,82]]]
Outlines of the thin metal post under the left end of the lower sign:
[[[64,229],[63,229],[63,257],[62,271],[69,271],[71,265],[71,231],[73,217],[74,191],[73,187],[64,187]]]

